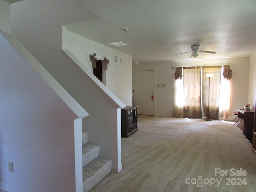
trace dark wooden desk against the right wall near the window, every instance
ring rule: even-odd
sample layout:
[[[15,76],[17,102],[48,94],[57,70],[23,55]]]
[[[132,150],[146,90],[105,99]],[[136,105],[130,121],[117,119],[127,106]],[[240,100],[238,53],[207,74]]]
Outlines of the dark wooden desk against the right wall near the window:
[[[244,133],[252,133],[254,124],[254,111],[238,109],[238,124],[237,126]]]

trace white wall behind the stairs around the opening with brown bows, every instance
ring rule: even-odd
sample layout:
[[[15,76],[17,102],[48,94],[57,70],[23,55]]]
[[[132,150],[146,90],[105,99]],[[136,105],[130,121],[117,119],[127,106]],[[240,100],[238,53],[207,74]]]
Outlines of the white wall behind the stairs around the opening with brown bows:
[[[68,49],[88,70],[92,71],[90,54],[96,53],[96,58],[103,60],[104,57],[110,60],[106,70],[106,87],[109,88],[124,104],[132,105],[132,56],[98,44],[87,38],[64,32],[66,42],[63,48]],[[115,56],[118,60],[115,62]],[[123,62],[120,62],[120,59]]]

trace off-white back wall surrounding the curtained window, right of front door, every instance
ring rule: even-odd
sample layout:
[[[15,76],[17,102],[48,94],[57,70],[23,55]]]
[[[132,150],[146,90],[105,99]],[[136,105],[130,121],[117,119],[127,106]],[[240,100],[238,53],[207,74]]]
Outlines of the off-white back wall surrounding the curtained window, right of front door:
[[[184,60],[170,62],[140,62],[133,64],[135,70],[155,70],[155,115],[172,116],[174,101],[174,72],[171,67],[230,65],[233,71],[231,91],[233,94],[232,111],[243,108],[248,103],[250,58],[225,58],[214,60]],[[160,84],[160,87],[157,85]],[[162,88],[161,84],[166,84]]]

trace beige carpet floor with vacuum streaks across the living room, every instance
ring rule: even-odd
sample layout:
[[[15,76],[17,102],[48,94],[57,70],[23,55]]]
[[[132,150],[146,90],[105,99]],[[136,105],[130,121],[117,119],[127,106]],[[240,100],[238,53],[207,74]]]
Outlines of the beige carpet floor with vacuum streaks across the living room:
[[[138,128],[122,138],[123,169],[90,192],[256,191],[256,154],[231,122],[139,116]]]

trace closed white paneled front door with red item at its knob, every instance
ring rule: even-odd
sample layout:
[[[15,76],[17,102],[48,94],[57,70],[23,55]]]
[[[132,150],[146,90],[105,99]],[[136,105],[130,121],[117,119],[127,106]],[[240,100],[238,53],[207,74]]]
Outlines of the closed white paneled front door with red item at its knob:
[[[154,115],[154,71],[134,72],[134,104],[139,115]]]

